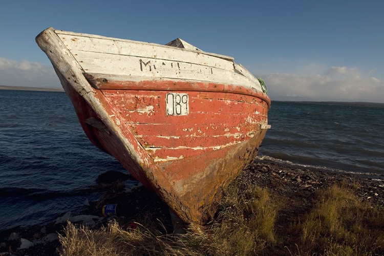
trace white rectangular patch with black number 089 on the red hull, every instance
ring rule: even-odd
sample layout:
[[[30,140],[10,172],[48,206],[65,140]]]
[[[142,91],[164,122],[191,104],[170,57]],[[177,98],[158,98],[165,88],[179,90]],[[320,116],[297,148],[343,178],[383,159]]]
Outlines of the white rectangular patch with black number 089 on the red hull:
[[[186,116],[189,113],[189,97],[186,93],[167,93],[167,115]]]

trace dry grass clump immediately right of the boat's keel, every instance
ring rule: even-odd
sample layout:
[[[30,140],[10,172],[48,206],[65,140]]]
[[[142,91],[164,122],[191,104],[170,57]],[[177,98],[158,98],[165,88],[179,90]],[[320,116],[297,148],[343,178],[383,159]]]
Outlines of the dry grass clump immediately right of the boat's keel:
[[[205,237],[209,255],[255,255],[275,243],[277,208],[266,189],[231,186],[222,200],[217,220]]]

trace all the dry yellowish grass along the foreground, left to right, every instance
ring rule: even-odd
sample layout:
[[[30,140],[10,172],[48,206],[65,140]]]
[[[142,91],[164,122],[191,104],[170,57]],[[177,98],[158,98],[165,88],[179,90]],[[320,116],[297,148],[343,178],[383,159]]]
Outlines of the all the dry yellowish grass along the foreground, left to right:
[[[383,210],[354,196],[358,184],[318,194],[312,211],[275,234],[277,204],[266,189],[232,185],[204,234],[164,234],[147,220],[137,229],[112,222],[90,230],[69,224],[61,255],[375,255],[384,253]],[[144,227],[145,226],[145,227]],[[160,226],[161,227],[161,226]]]

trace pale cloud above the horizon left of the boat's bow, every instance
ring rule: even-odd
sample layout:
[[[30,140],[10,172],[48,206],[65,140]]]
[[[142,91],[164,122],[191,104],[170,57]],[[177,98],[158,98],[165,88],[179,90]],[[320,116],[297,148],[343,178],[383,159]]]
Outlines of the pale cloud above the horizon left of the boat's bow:
[[[60,82],[52,66],[28,60],[0,57],[0,85],[59,88]]]

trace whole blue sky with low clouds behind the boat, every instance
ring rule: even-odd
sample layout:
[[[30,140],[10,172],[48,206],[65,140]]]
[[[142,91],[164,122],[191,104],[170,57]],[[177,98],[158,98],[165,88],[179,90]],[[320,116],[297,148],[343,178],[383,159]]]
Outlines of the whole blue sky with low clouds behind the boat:
[[[234,57],[271,100],[384,102],[384,1],[2,1],[0,85],[60,88],[35,36],[53,27]]]

